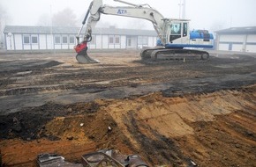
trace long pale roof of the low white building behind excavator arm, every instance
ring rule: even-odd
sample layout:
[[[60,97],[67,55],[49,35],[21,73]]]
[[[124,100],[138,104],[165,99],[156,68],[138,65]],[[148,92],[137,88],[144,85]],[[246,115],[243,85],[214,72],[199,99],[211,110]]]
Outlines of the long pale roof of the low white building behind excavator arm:
[[[83,28],[82,33],[85,33],[85,29]],[[4,33],[77,34],[79,33],[79,27],[6,25]],[[95,28],[93,34],[157,36],[157,33],[153,30],[119,29],[115,26]]]

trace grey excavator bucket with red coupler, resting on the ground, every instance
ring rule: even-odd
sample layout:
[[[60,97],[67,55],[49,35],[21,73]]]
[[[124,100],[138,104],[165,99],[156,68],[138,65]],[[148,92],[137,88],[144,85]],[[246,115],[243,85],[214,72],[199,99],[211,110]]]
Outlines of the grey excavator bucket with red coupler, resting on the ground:
[[[78,53],[76,59],[79,63],[98,63],[99,61],[94,60],[87,54],[87,42],[82,42],[78,44],[74,49]]]

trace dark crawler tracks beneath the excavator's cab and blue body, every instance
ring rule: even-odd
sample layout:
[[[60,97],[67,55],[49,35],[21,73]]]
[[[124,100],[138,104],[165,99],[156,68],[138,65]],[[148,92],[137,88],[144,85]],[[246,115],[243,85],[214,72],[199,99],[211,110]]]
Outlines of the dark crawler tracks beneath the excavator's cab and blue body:
[[[206,51],[182,48],[149,48],[140,53],[142,60],[203,60],[209,58]]]

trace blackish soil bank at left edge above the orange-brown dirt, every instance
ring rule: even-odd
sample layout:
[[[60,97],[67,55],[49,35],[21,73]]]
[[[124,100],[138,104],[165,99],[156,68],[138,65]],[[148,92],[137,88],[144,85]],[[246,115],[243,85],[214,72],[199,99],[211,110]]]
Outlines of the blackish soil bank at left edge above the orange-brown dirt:
[[[45,129],[45,125],[56,117],[67,115],[79,115],[83,113],[94,113],[99,106],[94,103],[57,105],[48,103],[40,107],[27,107],[26,109],[8,115],[0,115],[1,139],[11,139],[19,137],[23,140],[34,140],[45,137],[40,133]],[[56,136],[47,136],[51,140],[58,139]]]

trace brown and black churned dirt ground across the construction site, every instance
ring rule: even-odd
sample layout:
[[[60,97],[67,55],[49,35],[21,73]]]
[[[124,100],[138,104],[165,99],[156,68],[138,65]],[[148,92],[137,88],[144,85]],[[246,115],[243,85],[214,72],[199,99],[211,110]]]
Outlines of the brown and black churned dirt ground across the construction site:
[[[256,166],[256,54],[141,62],[139,52],[0,54],[4,166],[99,149],[150,166]]]

